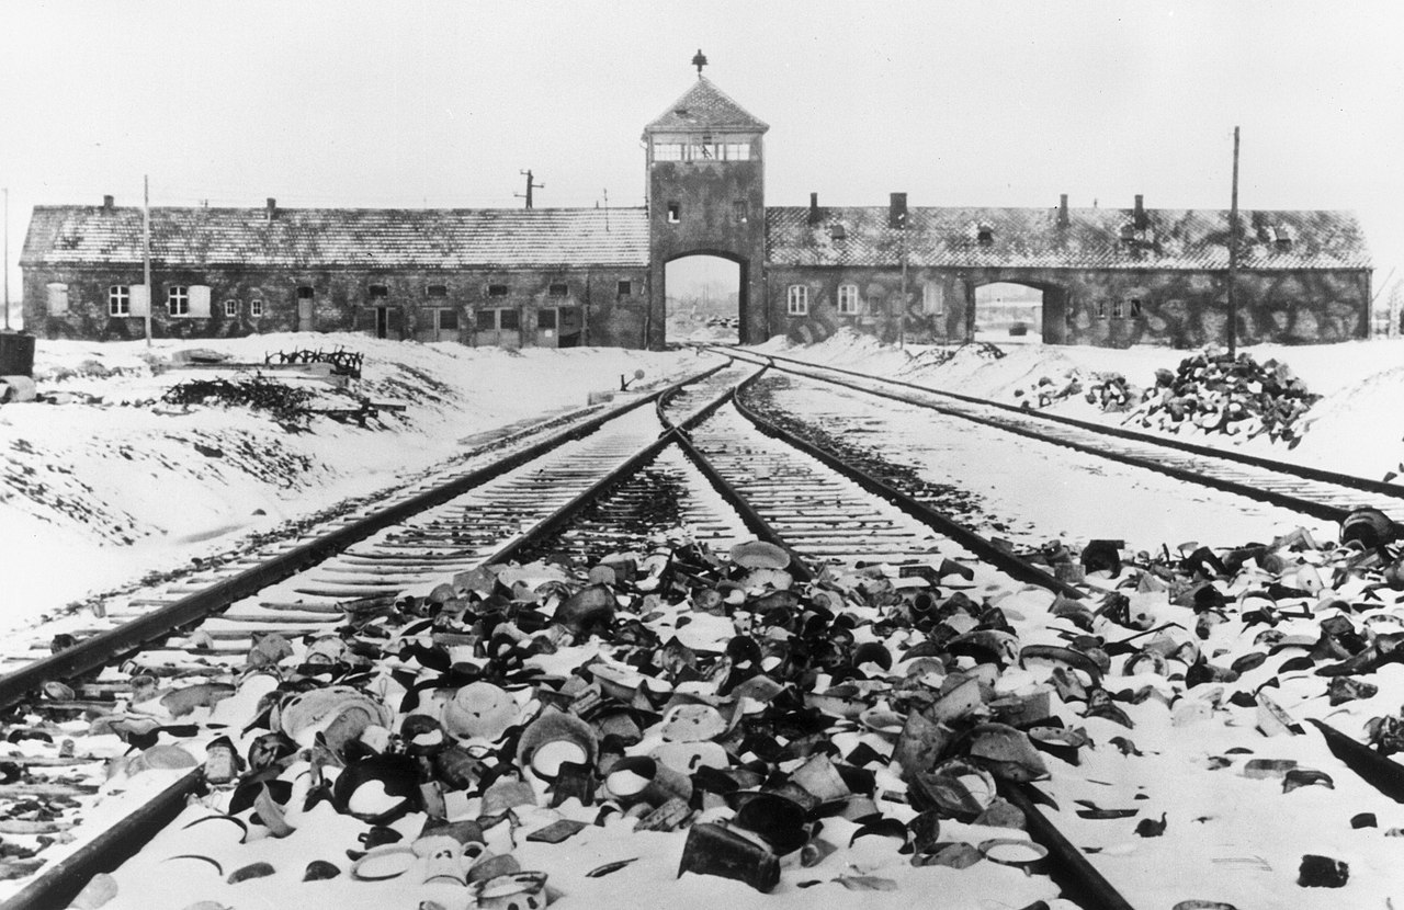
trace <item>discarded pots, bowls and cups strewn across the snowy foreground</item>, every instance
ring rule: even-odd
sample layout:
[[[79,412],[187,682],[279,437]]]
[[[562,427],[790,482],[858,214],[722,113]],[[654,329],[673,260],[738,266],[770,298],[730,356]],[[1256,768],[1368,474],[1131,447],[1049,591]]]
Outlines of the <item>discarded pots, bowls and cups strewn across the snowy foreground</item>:
[[[1247,907],[1252,889],[1360,888],[1370,865],[1337,847],[1362,806],[1382,830],[1353,850],[1404,824],[1323,771],[1304,727],[1330,712],[1397,747],[1400,685],[1372,677],[1404,661],[1393,532],[1369,515],[1341,546],[1046,553],[1077,563],[1087,598],[981,587],[951,559],[806,581],[758,542],[675,541],[584,577],[494,566],[348,602],[334,635],[267,635],[229,673],[129,667],[98,682],[110,708],[51,687],[11,729],[121,753],[105,789],[204,765],[174,830],[94,886],[112,907],[598,906],[619,883],[694,906],[668,892],[689,876],[713,882],[708,906],[939,882],[949,906],[1071,907],[1026,875],[1047,864],[1008,789],[1025,782],[1073,843],[1163,868],[1164,906]],[[1345,805],[1311,802],[1328,788]],[[0,831],[39,817],[15,809]],[[1202,893],[1223,885],[1177,864],[1231,840],[1237,813],[1311,848],[1259,843],[1266,873]]]

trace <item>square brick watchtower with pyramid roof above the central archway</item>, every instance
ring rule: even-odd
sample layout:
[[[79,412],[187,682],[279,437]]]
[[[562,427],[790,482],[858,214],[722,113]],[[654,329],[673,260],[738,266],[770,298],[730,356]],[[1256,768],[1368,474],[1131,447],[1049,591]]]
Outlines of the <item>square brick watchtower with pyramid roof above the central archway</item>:
[[[740,338],[769,337],[765,324],[765,150],[769,129],[702,74],[643,128],[649,171],[649,347],[661,348],[665,267],[706,254],[740,265]]]

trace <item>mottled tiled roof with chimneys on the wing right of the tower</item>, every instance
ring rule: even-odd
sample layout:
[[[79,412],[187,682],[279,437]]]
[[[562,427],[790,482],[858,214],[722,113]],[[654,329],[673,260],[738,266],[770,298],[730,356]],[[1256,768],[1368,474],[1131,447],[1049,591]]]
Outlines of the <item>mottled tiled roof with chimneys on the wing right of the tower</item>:
[[[781,265],[892,265],[900,261],[899,230],[886,206],[765,209],[767,261]],[[1243,211],[1241,268],[1370,268],[1365,235],[1352,212]],[[907,263],[936,267],[1177,268],[1228,267],[1228,212],[1147,209],[1136,232],[1132,209],[911,208]],[[842,225],[847,237],[833,239]],[[988,243],[980,242],[981,226]],[[1289,244],[1273,233],[1286,229]],[[1129,239],[1123,239],[1125,236]]]

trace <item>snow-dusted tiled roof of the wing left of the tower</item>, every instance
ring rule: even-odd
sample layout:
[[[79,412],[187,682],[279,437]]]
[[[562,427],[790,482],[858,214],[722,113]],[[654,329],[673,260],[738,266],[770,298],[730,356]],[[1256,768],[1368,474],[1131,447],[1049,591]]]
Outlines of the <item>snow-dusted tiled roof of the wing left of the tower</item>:
[[[623,209],[153,208],[160,264],[362,268],[642,267],[649,218]],[[35,206],[21,265],[142,261],[142,211]]]

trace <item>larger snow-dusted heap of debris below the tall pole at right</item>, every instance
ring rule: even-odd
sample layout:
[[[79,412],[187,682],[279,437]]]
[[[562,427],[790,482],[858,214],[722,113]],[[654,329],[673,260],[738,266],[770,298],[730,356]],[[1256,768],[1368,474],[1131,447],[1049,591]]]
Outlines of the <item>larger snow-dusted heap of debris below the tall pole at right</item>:
[[[1171,372],[1155,371],[1155,388],[1127,421],[1167,433],[1221,433],[1273,442],[1300,442],[1303,417],[1320,395],[1276,360],[1258,364],[1251,354],[1202,352]]]

